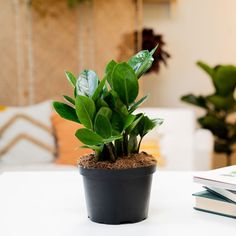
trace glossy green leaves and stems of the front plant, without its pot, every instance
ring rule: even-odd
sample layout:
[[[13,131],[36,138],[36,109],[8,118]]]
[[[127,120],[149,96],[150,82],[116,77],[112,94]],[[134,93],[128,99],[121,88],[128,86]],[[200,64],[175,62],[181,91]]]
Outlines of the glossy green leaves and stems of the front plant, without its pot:
[[[128,62],[110,61],[99,81],[92,70],[84,70],[76,78],[65,72],[74,89],[74,97],[64,95],[67,103],[55,101],[56,112],[65,119],[82,124],[76,137],[84,148],[94,150],[97,161],[115,162],[117,158],[139,153],[143,137],[162,119],[150,119],[135,110],[148,98],[138,101],[138,80],[151,67],[153,53],[143,50]]]

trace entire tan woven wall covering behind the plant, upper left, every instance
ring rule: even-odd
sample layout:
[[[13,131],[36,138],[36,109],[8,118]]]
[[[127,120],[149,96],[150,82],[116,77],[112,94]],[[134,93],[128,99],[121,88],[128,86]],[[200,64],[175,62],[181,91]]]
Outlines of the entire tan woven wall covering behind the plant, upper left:
[[[139,27],[134,0],[0,0],[0,104],[27,105],[70,93],[64,70],[102,75],[119,58],[125,34]],[[134,51],[134,40],[129,43]],[[122,58],[123,59],[123,58]]]

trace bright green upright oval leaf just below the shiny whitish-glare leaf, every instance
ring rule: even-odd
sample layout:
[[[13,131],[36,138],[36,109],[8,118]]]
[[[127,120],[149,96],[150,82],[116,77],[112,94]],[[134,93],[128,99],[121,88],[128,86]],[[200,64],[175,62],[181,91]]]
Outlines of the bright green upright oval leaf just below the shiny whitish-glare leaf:
[[[77,96],[75,100],[76,113],[80,122],[88,129],[93,129],[93,119],[96,107],[92,98]]]

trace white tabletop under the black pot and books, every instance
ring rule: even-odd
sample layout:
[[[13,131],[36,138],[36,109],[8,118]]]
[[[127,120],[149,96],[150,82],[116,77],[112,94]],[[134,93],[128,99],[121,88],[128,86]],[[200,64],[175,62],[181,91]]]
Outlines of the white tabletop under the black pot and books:
[[[191,194],[198,190],[190,172],[157,172],[147,220],[103,225],[87,218],[77,171],[6,172],[0,175],[0,235],[234,235],[235,219],[193,209]]]

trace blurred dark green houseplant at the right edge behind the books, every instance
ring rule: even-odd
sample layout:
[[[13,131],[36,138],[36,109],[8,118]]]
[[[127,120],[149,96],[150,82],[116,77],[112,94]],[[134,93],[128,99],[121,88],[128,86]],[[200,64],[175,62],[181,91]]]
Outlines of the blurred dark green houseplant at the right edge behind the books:
[[[215,136],[215,152],[227,155],[227,165],[231,165],[231,154],[236,143],[236,122],[232,115],[236,111],[234,96],[236,87],[236,67],[218,65],[210,67],[203,62],[197,62],[211,78],[214,93],[210,95],[188,94],[181,100],[205,109],[205,115],[198,119],[199,124],[209,129]]]

